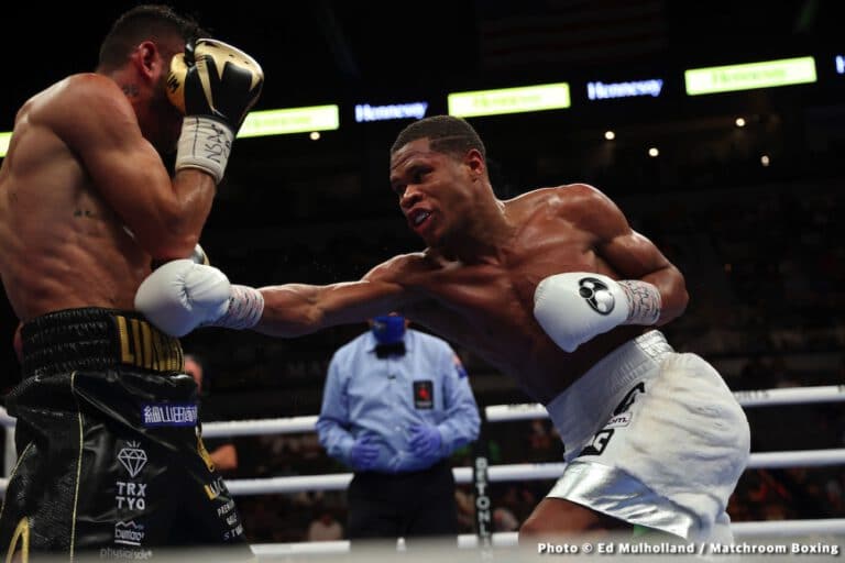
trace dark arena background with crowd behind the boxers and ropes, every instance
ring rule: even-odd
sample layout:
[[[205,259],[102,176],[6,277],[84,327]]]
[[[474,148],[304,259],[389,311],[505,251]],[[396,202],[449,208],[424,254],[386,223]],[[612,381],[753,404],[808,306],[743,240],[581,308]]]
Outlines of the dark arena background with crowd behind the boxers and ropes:
[[[92,69],[109,25],[131,5],[6,5],[0,131],[11,130],[32,93]],[[340,106],[340,129],[319,141],[303,133],[235,143],[202,235],[212,263],[233,282],[355,279],[421,247],[387,189],[388,148],[409,121],[355,123],[355,103],[425,100],[435,114],[446,112],[450,91],[568,81],[569,109],[470,120],[487,145],[497,194],[586,181],[614,198],[687,276],[690,308],[666,328],[670,341],[710,360],[732,388],[845,383],[845,76],[834,70],[845,51],[843,2],[312,0],[278,2],[272,13],[263,2],[174,5],[262,64],[256,109]],[[815,56],[816,84],[683,92],[688,68],[806,55]],[[665,86],[657,99],[585,96],[589,80],[658,77]],[[737,117],[745,128],[735,126]],[[613,142],[603,136],[608,129]],[[647,156],[650,146],[659,157]],[[0,297],[6,388],[18,378],[15,323]],[[205,357],[205,400],[222,418],[315,415],[332,352],[363,330],[285,341],[205,329],[184,345]],[[528,400],[511,379],[459,353],[480,406]],[[842,448],[842,410],[749,410],[753,451]],[[559,459],[548,423],[496,432],[493,463]],[[315,440],[241,439],[237,476],[345,471]],[[749,472],[732,517],[845,515],[845,478],[838,467],[824,471]],[[502,487],[495,504],[522,519],[548,484]],[[517,493],[524,501],[511,498]],[[318,505],[307,495],[283,497],[239,499],[251,540],[301,539]],[[332,506],[341,517],[342,501]]]

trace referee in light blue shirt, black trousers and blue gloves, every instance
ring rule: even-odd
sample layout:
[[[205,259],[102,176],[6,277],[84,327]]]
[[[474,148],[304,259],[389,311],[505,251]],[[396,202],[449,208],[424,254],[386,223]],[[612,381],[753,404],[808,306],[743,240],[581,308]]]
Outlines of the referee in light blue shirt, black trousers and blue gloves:
[[[479,410],[451,346],[407,325],[376,317],[329,364],[317,432],[354,470],[352,540],[458,533],[448,459],[478,438]]]

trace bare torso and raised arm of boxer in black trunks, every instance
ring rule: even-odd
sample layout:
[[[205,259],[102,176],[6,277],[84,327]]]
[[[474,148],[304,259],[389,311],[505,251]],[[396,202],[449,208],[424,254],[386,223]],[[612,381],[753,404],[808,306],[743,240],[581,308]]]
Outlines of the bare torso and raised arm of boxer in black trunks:
[[[187,255],[196,243],[213,183],[188,170],[185,185],[199,188],[172,186],[153,143],[172,147],[182,115],[163,91],[144,93],[120,76],[80,74],[19,110],[0,168],[0,277],[22,322],[77,307],[132,309],[150,274],[142,246]]]

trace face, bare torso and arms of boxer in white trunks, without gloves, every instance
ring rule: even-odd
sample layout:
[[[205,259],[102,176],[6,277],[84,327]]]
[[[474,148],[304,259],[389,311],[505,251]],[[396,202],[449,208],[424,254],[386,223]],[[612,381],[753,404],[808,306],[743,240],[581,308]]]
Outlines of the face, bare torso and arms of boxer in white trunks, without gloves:
[[[563,352],[534,318],[534,292],[545,277],[588,272],[647,280],[662,296],[659,323],[685,307],[678,269],[590,186],[501,201],[480,153],[456,157],[431,150],[427,139],[393,155],[391,185],[408,227],[428,249],[388,260],[361,282],[263,288],[266,306],[256,330],[289,336],[400,310],[549,402],[646,329],[618,327]]]

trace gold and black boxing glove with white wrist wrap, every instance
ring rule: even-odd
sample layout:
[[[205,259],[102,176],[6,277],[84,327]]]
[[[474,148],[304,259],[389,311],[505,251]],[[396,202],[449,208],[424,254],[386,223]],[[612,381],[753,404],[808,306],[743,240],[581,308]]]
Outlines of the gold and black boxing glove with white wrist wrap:
[[[167,97],[185,114],[176,170],[199,168],[219,184],[234,135],[263,86],[261,65],[221,41],[199,38],[175,55]]]

